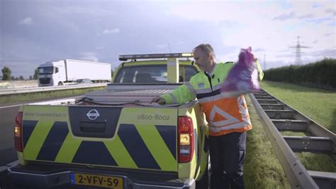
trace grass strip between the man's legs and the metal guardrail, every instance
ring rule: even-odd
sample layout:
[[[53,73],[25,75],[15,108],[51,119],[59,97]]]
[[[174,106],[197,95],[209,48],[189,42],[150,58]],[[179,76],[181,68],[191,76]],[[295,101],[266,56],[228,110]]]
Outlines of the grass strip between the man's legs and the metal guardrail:
[[[245,188],[291,188],[248,95],[253,129],[247,132]]]

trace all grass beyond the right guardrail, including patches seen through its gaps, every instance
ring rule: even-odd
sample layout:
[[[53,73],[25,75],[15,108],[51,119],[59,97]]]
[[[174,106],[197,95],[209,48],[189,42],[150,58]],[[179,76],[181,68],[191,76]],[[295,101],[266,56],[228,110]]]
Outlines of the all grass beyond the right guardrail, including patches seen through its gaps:
[[[262,81],[262,88],[326,129],[336,132],[336,92],[270,81]],[[305,136],[303,133],[290,131],[281,134]],[[308,152],[296,153],[296,156],[309,171],[336,172],[336,161],[330,156]]]

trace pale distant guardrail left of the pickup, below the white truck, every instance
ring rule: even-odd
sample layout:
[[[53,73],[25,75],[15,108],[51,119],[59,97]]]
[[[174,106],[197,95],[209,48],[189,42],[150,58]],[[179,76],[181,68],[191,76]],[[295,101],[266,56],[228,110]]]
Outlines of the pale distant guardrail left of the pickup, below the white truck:
[[[99,84],[89,84],[89,85],[65,85],[65,86],[55,86],[55,87],[30,87],[30,88],[15,88],[9,90],[0,90],[1,95],[16,95],[20,93],[30,93],[30,92],[48,92],[55,90],[74,90],[74,89],[84,89],[91,87],[105,87],[107,83]]]

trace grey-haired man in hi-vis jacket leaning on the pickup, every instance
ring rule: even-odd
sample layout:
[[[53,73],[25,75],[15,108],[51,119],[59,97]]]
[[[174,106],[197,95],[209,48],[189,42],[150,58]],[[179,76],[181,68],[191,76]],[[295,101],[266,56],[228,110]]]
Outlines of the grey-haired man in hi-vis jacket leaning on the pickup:
[[[183,104],[197,97],[209,126],[211,188],[244,188],[243,163],[246,131],[252,129],[245,97],[224,97],[220,93],[234,63],[216,63],[211,45],[201,44],[193,50],[196,65],[202,70],[190,82],[155,97],[159,104]],[[257,62],[258,80],[263,72]]]

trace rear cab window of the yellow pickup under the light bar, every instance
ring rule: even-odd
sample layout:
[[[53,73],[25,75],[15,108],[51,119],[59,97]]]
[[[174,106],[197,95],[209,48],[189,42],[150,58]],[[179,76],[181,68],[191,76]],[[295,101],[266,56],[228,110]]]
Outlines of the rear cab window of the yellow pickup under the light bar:
[[[179,65],[179,82],[187,82],[197,72],[193,65]],[[121,68],[114,83],[165,83],[167,65],[137,65]]]

